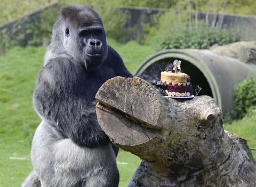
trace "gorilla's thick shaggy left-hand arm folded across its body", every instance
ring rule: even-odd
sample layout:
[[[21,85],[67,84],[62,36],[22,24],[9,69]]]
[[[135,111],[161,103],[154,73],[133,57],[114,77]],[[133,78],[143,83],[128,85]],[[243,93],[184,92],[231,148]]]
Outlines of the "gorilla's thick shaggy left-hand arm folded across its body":
[[[96,147],[109,142],[99,127],[94,96],[86,86],[83,67],[67,58],[55,58],[42,68],[34,91],[34,107],[64,136],[80,146]],[[88,105],[90,103],[90,105]]]

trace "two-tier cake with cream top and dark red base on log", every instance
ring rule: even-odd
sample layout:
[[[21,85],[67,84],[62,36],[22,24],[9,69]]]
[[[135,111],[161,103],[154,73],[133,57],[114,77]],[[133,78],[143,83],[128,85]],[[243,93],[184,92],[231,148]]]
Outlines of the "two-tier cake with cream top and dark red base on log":
[[[172,97],[188,97],[193,94],[190,76],[180,72],[180,60],[174,60],[171,70],[161,72],[161,81],[166,83],[164,91]]]

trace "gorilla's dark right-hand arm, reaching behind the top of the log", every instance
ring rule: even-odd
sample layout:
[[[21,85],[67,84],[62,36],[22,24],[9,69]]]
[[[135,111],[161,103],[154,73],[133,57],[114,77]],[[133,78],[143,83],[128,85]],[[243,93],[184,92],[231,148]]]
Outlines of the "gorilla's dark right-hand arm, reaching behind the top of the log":
[[[120,55],[110,46],[108,46],[108,58],[105,62],[114,72],[116,73],[116,76],[121,77],[133,77],[133,75],[127,70],[127,68],[124,65],[124,62]]]

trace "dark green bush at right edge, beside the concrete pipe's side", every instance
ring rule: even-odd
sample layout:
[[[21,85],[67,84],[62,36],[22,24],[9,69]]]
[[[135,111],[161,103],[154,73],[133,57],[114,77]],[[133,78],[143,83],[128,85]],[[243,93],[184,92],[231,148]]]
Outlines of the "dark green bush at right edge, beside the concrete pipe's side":
[[[235,86],[234,109],[236,116],[242,118],[256,105],[256,78],[248,77]]]

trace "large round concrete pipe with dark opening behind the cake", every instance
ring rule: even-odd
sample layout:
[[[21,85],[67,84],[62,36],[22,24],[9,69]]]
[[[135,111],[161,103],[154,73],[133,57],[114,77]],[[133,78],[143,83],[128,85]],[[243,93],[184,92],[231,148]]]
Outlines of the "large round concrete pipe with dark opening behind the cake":
[[[175,60],[181,60],[182,72],[191,77],[193,86],[202,90],[198,95],[213,97],[223,112],[233,108],[234,86],[248,76],[256,76],[256,66],[234,58],[219,56],[209,50],[164,50],[146,59],[135,75],[148,75],[160,80],[160,72]]]

